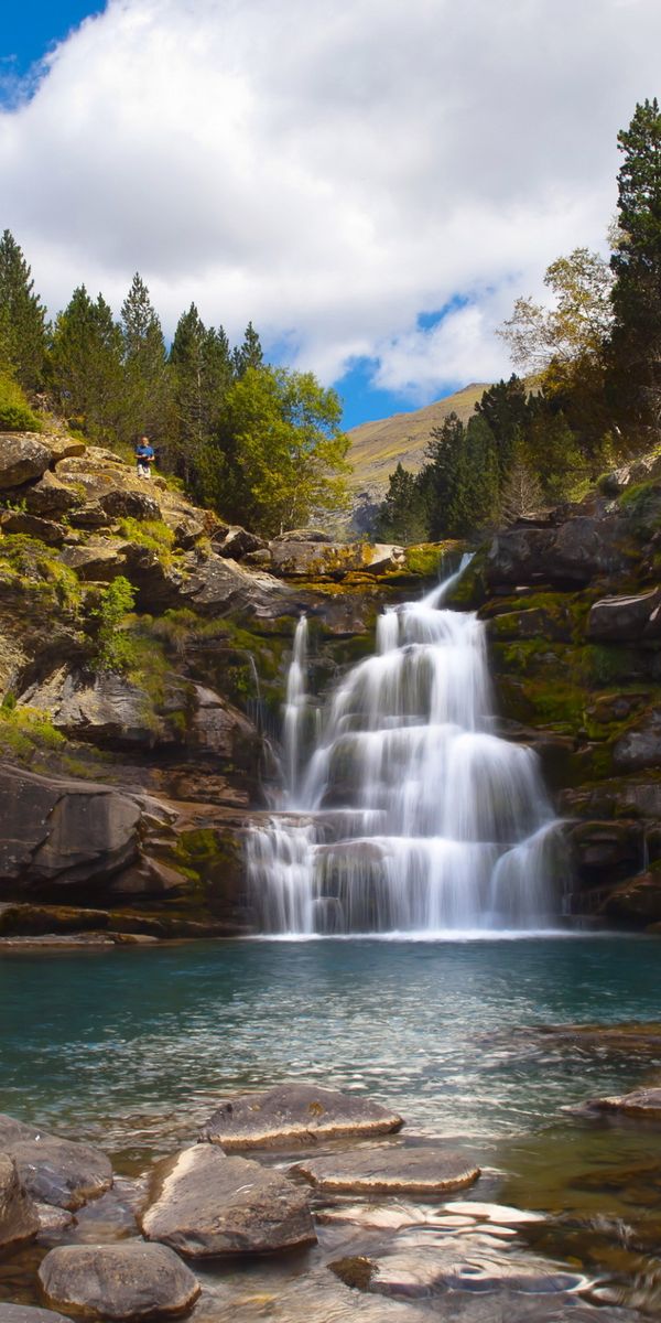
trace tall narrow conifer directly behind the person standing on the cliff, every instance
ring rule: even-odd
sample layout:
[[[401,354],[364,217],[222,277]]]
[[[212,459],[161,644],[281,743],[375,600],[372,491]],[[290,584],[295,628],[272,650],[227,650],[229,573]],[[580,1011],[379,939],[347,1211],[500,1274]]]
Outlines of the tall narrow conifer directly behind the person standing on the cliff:
[[[171,413],[167,352],[149,291],[137,271],[122,304],[120,325],[128,433],[147,433],[157,443],[165,438]]]

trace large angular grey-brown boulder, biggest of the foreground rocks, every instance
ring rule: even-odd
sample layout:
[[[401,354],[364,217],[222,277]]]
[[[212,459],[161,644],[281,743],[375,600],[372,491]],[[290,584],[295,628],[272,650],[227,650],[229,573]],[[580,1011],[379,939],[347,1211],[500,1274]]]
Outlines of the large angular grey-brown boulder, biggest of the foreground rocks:
[[[316,1241],[307,1191],[246,1158],[196,1144],[156,1168],[140,1224],[190,1258],[263,1254]]]

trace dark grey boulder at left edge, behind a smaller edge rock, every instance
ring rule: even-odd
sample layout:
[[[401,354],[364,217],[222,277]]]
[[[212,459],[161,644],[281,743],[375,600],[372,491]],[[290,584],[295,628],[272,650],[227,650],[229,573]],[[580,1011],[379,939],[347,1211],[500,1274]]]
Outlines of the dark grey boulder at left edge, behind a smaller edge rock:
[[[42,1204],[81,1208],[112,1185],[112,1167],[99,1148],[59,1139],[1,1114],[0,1152],[13,1159],[22,1188]]]

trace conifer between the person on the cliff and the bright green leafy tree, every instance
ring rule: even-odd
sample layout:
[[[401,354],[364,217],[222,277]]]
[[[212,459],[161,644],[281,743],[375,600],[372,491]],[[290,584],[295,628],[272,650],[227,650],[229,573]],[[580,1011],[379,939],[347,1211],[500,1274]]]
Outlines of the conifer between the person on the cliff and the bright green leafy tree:
[[[222,405],[233,380],[227,336],[206,328],[196,304],[178,319],[169,353],[176,437],[169,462],[201,496],[205,452],[214,447]]]

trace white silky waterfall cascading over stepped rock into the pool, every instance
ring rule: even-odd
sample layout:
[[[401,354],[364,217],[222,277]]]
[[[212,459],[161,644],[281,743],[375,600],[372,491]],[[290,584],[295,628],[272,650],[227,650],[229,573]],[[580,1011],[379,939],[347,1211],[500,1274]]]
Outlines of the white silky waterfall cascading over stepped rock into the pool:
[[[550,926],[557,820],[537,755],[489,730],[484,626],[443,609],[453,579],[381,615],[375,655],[337,685],[307,761],[307,622],[299,622],[284,811],[249,837],[263,933]]]

